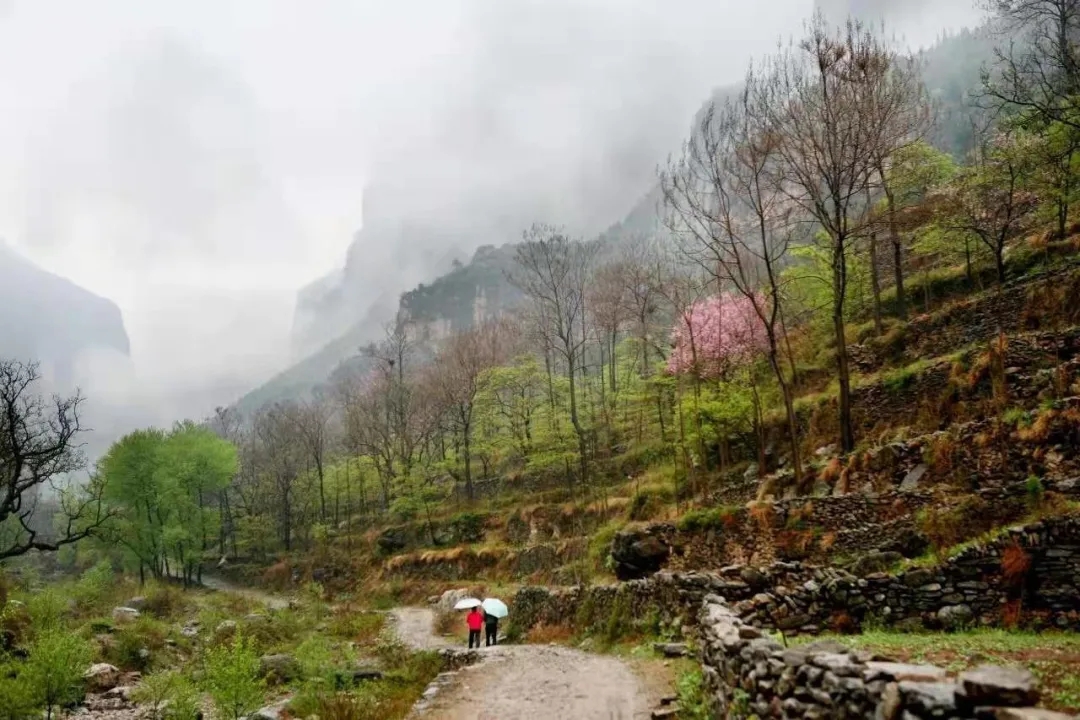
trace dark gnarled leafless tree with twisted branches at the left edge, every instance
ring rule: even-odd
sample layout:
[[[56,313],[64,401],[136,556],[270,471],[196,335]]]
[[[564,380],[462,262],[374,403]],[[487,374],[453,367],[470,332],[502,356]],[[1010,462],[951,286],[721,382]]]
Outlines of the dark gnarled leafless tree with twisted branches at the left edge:
[[[36,392],[35,363],[0,361],[0,560],[30,551],[55,551],[87,538],[108,521],[100,480],[63,485],[84,466],[77,441],[82,397]],[[45,492],[58,497],[60,527],[35,517]]]

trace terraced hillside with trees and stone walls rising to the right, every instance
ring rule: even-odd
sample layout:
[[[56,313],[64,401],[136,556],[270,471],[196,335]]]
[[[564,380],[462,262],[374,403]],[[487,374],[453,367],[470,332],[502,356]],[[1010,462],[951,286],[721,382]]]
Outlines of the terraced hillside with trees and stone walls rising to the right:
[[[697,113],[608,233],[531,226],[347,335],[314,392],[118,441],[60,507],[57,563],[429,599],[411,610],[448,633],[459,599],[512,597],[511,641],[696,653],[653,717],[1070,717],[1064,4],[1000,3],[921,55],[819,16]],[[299,717],[366,697],[289,688]]]

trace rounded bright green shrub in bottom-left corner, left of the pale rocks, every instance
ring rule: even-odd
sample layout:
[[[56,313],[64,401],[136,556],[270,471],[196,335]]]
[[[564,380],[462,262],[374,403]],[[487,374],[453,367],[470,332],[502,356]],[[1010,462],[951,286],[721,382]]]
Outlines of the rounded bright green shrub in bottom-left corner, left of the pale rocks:
[[[46,718],[51,720],[57,707],[82,698],[82,674],[92,657],[89,642],[59,627],[45,630],[33,642],[25,676]]]

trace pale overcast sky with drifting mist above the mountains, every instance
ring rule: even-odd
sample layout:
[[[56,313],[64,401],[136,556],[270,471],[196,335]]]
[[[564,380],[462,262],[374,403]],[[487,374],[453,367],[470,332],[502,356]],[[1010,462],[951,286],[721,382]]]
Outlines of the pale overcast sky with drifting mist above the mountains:
[[[365,182],[591,232],[811,5],[0,0],[0,235],[116,301],[141,384],[197,413],[285,363]]]

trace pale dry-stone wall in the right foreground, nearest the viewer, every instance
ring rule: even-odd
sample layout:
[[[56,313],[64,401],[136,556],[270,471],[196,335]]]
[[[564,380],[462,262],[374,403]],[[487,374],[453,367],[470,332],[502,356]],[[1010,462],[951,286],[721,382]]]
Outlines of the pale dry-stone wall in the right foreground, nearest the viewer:
[[[828,640],[784,648],[715,595],[704,599],[699,626],[717,718],[1068,717],[1031,708],[1039,692],[1027,670],[986,666],[949,678],[940,667],[892,663]]]

